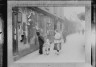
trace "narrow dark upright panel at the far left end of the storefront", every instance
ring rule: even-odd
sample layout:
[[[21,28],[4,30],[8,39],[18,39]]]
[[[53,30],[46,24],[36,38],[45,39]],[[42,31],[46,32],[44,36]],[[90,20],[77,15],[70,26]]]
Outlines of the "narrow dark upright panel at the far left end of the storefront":
[[[18,13],[13,11],[12,13],[12,26],[13,26],[13,55],[16,56],[18,53],[18,36],[17,36],[17,17]]]

